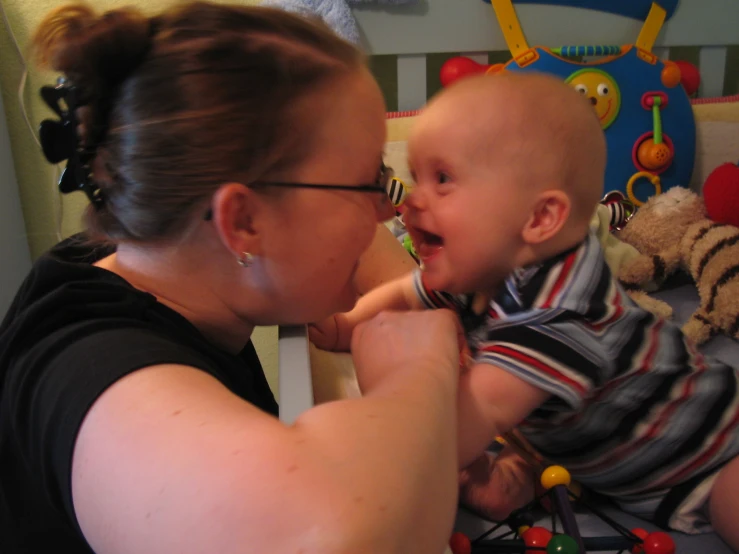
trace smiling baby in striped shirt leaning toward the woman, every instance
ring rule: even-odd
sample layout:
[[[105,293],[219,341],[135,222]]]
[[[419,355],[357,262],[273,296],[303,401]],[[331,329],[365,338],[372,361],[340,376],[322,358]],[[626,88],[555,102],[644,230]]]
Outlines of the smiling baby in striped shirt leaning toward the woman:
[[[624,510],[688,533],[712,524],[739,549],[737,373],[611,275],[588,229],[606,163],[588,99],[542,74],[463,79],[422,111],[408,161],[422,270],[315,326],[314,342],[347,350],[380,311],[453,309],[472,359],[461,467],[516,427]]]

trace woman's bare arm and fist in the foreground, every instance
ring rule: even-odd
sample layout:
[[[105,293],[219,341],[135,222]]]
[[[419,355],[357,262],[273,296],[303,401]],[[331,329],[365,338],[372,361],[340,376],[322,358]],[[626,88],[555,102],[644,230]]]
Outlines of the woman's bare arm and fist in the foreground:
[[[358,366],[393,370],[290,427],[193,368],[153,366],[111,386],[73,460],[92,548],[441,552],[457,493],[453,316],[383,314],[355,335]]]

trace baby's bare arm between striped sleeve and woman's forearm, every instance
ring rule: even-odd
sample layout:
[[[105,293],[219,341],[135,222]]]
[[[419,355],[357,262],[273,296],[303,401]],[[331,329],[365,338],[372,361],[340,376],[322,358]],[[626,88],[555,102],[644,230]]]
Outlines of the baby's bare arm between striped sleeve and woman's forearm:
[[[467,467],[495,437],[513,429],[550,393],[487,363],[465,370],[459,383],[460,467]]]

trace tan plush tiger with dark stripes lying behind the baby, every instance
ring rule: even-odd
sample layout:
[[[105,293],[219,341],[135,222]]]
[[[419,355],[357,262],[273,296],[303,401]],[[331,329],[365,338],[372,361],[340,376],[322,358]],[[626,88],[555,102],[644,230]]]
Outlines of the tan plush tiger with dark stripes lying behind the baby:
[[[618,238],[641,253],[619,271],[627,288],[658,286],[682,268],[700,296],[683,332],[698,344],[718,332],[739,338],[739,228],[715,223],[700,196],[674,187],[650,198]]]

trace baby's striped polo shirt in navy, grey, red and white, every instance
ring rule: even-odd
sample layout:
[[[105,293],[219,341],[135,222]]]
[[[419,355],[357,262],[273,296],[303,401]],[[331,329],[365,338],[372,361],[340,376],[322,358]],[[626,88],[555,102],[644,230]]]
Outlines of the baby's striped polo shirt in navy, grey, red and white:
[[[480,315],[472,295],[429,290],[420,271],[415,284],[428,308],[459,313],[476,363],[551,393],[519,431],[624,509],[650,505],[659,522],[662,499],[680,501],[739,452],[736,370],[631,301],[595,236],[515,271]]]

